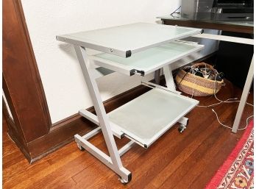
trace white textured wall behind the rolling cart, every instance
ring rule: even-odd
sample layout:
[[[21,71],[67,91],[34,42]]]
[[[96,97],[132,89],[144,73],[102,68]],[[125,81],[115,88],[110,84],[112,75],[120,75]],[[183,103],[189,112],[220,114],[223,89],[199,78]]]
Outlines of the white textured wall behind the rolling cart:
[[[179,7],[179,0],[22,0],[52,123],[92,106],[72,46],[60,43],[56,35],[138,21],[154,23]],[[149,76],[152,78],[152,75]],[[118,73],[98,80],[102,99],[140,83]]]

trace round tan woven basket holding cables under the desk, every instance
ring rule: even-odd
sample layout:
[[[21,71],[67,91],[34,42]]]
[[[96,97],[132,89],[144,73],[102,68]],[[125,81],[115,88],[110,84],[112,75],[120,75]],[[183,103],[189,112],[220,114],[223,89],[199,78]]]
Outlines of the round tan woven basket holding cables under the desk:
[[[196,63],[193,66],[199,65],[206,65],[207,68],[213,70],[214,73],[218,73],[212,65],[207,63]],[[214,93],[218,93],[221,89],[222,83],[224,82],[223,80],[215,81],[201,76],[196,76],[194,74],[187,73],[182,69],[179,70],[175,79],[179,90],[190,95],[193,94],[193,96],[210,96]]]

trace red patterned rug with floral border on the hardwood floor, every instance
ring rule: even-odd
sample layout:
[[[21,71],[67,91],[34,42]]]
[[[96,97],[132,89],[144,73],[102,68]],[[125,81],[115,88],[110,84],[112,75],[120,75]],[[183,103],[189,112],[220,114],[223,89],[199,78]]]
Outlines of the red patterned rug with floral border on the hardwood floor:
[[[205,189],[252,189],[253,187],[253,121],[216,175]]]

